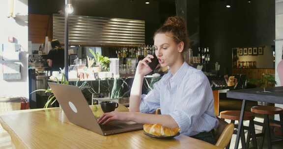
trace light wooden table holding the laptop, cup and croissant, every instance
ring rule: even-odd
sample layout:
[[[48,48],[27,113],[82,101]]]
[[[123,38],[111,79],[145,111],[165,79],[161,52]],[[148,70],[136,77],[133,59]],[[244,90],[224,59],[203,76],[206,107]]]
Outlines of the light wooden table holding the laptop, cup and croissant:
[[[122,105],[116,110],[128,111]],[[94,113],[100,115],[100,107]],[[0,116],[0,123],[18,149],[218,149],[185,135],[171,140],[151,138],[142,130],[102,136],[70,123],[60,108],[11,112]]]

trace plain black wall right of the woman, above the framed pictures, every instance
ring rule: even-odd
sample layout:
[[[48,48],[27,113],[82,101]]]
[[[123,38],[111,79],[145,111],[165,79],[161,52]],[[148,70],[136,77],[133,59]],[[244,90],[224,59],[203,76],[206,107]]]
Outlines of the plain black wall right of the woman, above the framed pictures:
[[[200,47],[209,47],[211,66],[221,65],[221,74],[231,74],[232,48],[274,45],[275,1],[232,0],[232,7],[225,7],[225,0],[201,0]]]

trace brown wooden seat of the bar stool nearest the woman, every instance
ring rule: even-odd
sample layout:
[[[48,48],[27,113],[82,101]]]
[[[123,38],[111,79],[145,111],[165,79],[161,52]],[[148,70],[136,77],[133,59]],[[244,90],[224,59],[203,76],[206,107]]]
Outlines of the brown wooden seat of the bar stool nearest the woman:
[[[236,110],[222,111],[220,112],[220,118],[239,121],[240,114],[241,114],[241,111],[236,111]],[[255,119],[255,115],[252,112],[245,111],[244,121],[254,120],[254,119]]]

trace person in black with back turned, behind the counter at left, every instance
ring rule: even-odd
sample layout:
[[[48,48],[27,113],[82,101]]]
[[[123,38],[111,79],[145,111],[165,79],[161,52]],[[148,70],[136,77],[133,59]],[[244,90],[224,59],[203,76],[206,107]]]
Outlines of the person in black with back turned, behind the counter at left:
[[[47,63],[50,71],[59,71],[64,68],[64,49],[58,40],[51,41],[52,50],[48,52]]]

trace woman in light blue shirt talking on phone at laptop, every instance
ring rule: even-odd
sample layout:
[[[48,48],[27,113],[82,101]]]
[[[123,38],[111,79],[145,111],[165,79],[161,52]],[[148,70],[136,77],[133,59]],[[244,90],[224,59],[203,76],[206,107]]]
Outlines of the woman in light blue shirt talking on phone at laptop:
[[[170,17],[154,35],[155,55],[162,67],[170,71],[146,96],[142,95],[143,77],[152,70],[148,55],[137,66],[130,96],[130,112],[105,113],[98,123],[112,120],[140,124],[179,127],[182,134],[215,144],[211,130],[218,124],[214,116],[213,94],[207,77],[190,67],[182,53],[188,47],[186,25],[180,17]],[[157,108],[161,115],[153,115]]]

